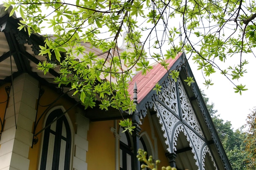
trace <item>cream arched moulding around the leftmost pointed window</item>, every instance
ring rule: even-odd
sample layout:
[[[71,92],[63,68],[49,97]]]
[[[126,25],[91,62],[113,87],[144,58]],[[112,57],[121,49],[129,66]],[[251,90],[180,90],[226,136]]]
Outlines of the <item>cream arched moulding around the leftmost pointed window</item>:
[[[55,110],[58,110],[58,109],[61,109],[61,111],[64,113],[66,110],[63,106],[56,106],[52,109],[50,109],[48,111],[48,113],[46,114],[45,116],[45,120],[44,120],[44,124],[43,124],[43,127],[47,126],[47,118],[49,117],[49,115],[51,115],[52,112],[54,112]],[[67,123],[69,125],[69,128],[70,128],[70,137],[71,137],[71,142],[70,142],[70,165],[69,165],[69,170],[72,170],[72,167],[73,167],[73,157],[74,157],[74,127],[72,125],[72,121],[70,119],[70,117],[68,116],[68,114],[66,113],[65,115],[66,120],[67,120]],[[42,133],[42,139],[41,139],[41,146],[40,146],[40,157],[39,157],[39,163],[38,163],[38,170],[40,170],[40,167],[41,167],[41,162],[42,162],[42,153],[43,153],[43,146],[44,146],[44,137],[45,137],[45,130],[43,131]]]

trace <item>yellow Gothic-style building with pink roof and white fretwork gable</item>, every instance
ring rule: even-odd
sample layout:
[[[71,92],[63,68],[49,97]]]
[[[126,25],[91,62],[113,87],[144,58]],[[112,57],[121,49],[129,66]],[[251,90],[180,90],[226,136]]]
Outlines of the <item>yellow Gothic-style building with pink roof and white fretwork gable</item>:
[[[0,11],[0,170],[138,170],[137,148],[160,167],[231,170],[197,84],[182,81],[193,76],[184,54],[168,61],[180,70],[177,82],[160,65],[133,77],[132,115],[84,110],[68,87],[53,82],[56,71],[36,69],[46,60],[38,56],[43,38],[18,31],[19,19]],[[132,136],[122,133],[122,117],[136,126]]]

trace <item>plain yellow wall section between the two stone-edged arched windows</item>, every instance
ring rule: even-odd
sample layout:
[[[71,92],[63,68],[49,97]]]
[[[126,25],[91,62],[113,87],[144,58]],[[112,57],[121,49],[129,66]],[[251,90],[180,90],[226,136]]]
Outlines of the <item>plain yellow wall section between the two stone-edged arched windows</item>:
[[[88,170],[115,170],[115,137],[110,128],[114,121],[90,122],[86,155]]]

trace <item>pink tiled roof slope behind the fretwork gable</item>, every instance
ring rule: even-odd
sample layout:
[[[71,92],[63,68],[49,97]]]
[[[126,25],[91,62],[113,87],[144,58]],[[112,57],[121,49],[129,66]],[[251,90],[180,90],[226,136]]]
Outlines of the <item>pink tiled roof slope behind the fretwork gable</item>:
[[[168,69],[173,66],[175,61],[182,55],[179,53],[174,60],[169,59],[166,62],[168,63]],[[133,87],[136,82],[137,84],[137,101],[141,102],[144,97],[155,87],[155,84],[159,82],[159,80],[167,73],[167,70],[161,64],[156,64],[153,66],[153,69],[146,73],[146,75],[142,75],[141,72],[137,73],[134,77],[132,77],[132,81],[129,82],[128,92],[130,94],[130,98],[133,97]]]

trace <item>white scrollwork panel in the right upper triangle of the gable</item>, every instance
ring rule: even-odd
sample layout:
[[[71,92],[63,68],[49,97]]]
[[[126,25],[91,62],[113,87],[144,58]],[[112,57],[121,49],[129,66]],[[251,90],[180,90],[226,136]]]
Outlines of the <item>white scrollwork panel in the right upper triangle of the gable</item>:
[[[186,121],[186,123],[189,124],[191,128],[195,129],[200,135],[204,136],[202,129],[200,128],[199,122],[195,116],[195,112],[189,101],[189,97],[187,96],[186,91],[182,85],[182,82],[180,79],[178,79],[177,82],[179,84],[182,119]]]

